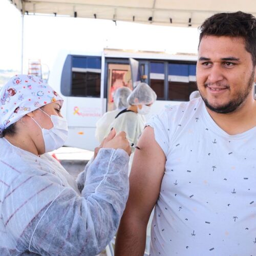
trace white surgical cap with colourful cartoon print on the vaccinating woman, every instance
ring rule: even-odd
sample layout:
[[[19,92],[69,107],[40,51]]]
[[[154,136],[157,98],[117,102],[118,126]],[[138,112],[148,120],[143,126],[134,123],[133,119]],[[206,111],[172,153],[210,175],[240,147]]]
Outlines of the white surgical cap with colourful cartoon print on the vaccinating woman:
[[[15,75],[0,90],[0,137],[3,131],[26,114],[63,99],[42,79]]]

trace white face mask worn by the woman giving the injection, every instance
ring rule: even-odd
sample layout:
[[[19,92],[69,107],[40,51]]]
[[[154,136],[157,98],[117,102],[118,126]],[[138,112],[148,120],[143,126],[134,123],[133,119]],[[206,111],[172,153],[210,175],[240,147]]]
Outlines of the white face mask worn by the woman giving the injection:
[[[41,109],[39,110],[42,111]],[[45,111],[42,112],[49,116]],[[67,120],[65,118],[55,115],[49,117],[53,123],[53,127],[49,130],[42,128],[36,120],[32,118],[42,130],[42,137],[45,142],[45,153],[57,150],[57,148],[63,146],[68,138],[69,132]]]

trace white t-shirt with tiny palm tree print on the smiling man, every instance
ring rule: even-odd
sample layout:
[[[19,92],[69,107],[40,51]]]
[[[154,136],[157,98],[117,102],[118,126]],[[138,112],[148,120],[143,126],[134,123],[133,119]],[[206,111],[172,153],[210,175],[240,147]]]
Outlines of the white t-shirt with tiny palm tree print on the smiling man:
[[[150,255],[256,255],[256,127],[228,135],[201,98],[147,124],[166,156]]]

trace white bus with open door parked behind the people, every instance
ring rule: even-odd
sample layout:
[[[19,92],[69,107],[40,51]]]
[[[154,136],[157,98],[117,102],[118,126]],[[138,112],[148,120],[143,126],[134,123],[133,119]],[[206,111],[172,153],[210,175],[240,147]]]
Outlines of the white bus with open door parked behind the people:
[[[98,53],[62,52],[49,84],[65,98],[63,116],[69,123],[67,146],[94,150],[97,120],[113,110],[113,93],[122,86],[133,88],[140,80],[157,94],[151,114],[181,101],[197,90],[196,55],[168,55],[104,49]]]

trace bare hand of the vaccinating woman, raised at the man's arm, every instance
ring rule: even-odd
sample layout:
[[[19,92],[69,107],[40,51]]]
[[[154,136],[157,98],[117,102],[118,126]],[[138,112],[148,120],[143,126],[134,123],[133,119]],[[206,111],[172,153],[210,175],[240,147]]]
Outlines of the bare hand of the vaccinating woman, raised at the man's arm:
[[[117,148],[121,148],[126,151],[129,156],[132,152],[130,143],[126,139],[126,133],[120,132],[116,135],[115,129],[112,129],[108,137],[102,141],[102,147],[115,148],[116,150]]]

